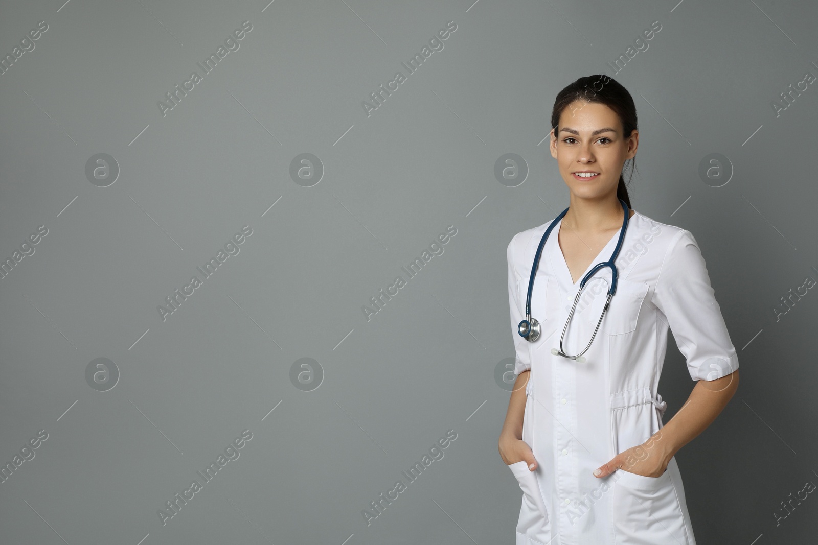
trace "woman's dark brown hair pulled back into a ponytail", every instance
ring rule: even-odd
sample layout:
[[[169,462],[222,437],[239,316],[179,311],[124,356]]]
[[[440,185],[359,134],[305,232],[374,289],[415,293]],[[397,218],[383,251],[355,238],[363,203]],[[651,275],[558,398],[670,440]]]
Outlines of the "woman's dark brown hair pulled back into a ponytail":
[[[631,93],[608,75],[596,74],[579,78],[557,93],[554,109],[551,110],[551,127],[554,127],[555,137],[560,131],[560,127],[557,127],[557,124],[560,123],[560,115],[573,101],[599,102],[613,109],[619,116],[619,121],[622,122],[624,138],[631,136],[631,133],[637,128],[636,105],[633,104]],[[627,159],[625,163],[627,161],[631,161],[631,176],[628,176],[628,181],[631,181],[633,169],[636,168],[636,157]],[[624,171],[624,168],[622,170]],[[619,173],[616,196],[625,201],[627,208],[631,208],[631,199],[627,196],[625,177],[622,176],[622,172]]]

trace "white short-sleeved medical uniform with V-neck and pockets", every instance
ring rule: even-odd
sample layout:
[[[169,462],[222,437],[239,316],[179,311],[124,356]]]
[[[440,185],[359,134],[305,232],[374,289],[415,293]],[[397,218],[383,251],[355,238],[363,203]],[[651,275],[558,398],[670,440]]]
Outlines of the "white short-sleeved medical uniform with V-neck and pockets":
[[[616,293],[587,360],[578,363],[551,349],[560,347],[582,276],[609,260],[619,231],[574,283],[558,242],[560,224],[551,230],[531,299],[542,333],[528,342],[517,326],[525,317],[534,254],[550,224],[518,233],[506,251],[515,374],[531,370],[523,440],[538,464],[535,471],[524,461],[509,466],[524,493],[516,543],[694,545],[676,458],[658,477],[618,469],[599,478],[593,471],[663,426],[667,403],[657,387],[668,326],[695,381],[739,368],[699,246],[689,231],[635,212],[615,261]],[[605,267],[588,281],[565,334],[566,354],[587,345],[610,279]]]

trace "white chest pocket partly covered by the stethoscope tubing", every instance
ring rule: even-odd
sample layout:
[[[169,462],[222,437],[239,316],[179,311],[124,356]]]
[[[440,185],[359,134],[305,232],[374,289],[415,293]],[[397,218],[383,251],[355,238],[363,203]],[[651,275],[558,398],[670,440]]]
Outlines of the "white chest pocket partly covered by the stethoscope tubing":
[[[602,309],[605,308],[609,285],[610,274],[607,275],[607,278],[601,275],[594,276],[585,284],[582,296],[577,302],[577,310],[574,315],[583,319],[591,327],[591,331],[596,328],[596,322],[599,321]],[[600,324],[600,332],[608,335],[622,335],[635,331],[640,311],[642,311],[642,302],[647,293],[648,284],[618,279],[616,293],[611,297],[611,304]],[[573,299],[569,303],[569,309],[570,305],[573,305]]]

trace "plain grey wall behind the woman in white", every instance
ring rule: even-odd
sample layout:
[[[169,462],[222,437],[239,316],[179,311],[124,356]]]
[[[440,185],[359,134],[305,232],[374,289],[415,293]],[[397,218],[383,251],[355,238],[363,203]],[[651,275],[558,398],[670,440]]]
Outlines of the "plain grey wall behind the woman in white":
[[[0,279],[0,461],[48,438],[0,484],[2,543],[514,543],[495,380],[514,355],[506,245],[567,206],[542,140],[556,93],[602,72],[639,114],[633,208],[694,234],[739,351],[738,393],[676,454],[699,543],[814,540],[818,499],[774,512],[818,483],[818,295],[772,309],[818,279],[816,84],[778,116],[771,102],[818,74],[815,4],[2,2],[0,55],[41,20],[0,75],[0,258],[48,229]],[[245,20],[239,50],[163,117],[157,102]],[[121,171],[104,188],[85,176],[100,153]],[[317,185],[290,177],[303,153]],[[493,174],[506,153],[528,165],[513,188]],[[717,188],[698,174],[712,153],[733,169]],[[156,307],[245,225],[163,321]],[[100,357],[119,369],[108,391],[85,379]],[[312,391],[290,380],[304,357],[324,375]],[[671,340],[665,422],[693,386]],[[240,458],[162,525],[245,429]],[[448,430],[445,457],[367,526]]]

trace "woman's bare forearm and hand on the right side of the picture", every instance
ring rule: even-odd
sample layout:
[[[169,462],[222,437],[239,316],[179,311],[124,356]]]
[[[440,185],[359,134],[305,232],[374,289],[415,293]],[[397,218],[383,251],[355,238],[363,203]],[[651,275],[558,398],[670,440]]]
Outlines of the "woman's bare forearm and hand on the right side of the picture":
[[[739,387],[739,370],[712,381],[696,382],[690,397],[659,431],[639,446],[623,450],[596,471],[607,476],[620,467],[648,477],[661,476],[673,455],[704,431]]]

